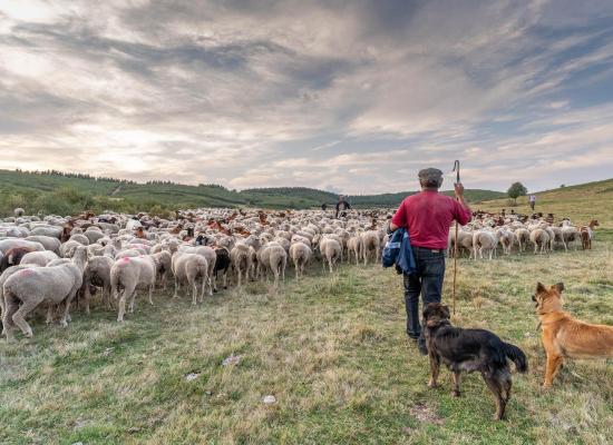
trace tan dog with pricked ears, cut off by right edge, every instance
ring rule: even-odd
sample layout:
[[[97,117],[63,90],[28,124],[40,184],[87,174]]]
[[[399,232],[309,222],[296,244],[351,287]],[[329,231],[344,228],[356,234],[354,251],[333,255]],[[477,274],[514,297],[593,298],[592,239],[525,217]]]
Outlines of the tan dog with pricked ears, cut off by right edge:
[[[545,287],[536,285],[532,299],[543,328],[543,346],[547,354],[547,367],[543,387],[548,388],[564,358],[613,357],[613,326],[590,325],[580,322],[562,309],[562,290],[558,283]]]

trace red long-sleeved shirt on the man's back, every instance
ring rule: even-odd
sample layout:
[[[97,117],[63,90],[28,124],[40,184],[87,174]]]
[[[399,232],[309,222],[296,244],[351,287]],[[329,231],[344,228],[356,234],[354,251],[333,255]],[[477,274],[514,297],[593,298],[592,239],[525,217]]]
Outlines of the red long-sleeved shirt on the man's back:
[[[464,226],[470,217],[468,206],[438,191],[422,190],[405,198],[391,222],[408,227],[411,246],[446,249],[451,221],[455,219]]]

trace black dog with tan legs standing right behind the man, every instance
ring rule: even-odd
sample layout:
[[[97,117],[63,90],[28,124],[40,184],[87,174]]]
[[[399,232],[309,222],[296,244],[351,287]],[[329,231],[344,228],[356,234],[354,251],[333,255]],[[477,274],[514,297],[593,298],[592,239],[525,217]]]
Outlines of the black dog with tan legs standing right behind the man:
[[[428,386],[437,386],[441,360],[454,373],[453,394],[456,397],[460,395],[460,373],[478,370],[496,397],[494,419],[502,419],[512,386],[507,357],[515,363],[519,373],[528,370],[526,355],[522,349],[504,343],[489,330],[451,326],[449,308],[439,303],[430,303],[424,309],[424,328],[431,370]]]

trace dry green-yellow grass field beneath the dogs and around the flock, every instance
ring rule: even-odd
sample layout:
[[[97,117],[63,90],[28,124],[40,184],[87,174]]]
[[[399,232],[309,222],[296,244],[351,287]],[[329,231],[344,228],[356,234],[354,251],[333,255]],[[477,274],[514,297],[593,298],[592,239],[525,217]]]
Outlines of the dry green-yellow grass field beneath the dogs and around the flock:
[[[504,422],[490,421],[478,375],[464,379],[460,398],[447,370],[441,388],[426,386],[399,276],[344,265],[333,276],[313,267],[279,291],[262,283],[222,291],[195,309],[158,293],[154,307],[137,299],[123,325],[99,306],[74,312],[66,329],[39,319],[33,339],[0,343],[0,443],[613,443],[611,364],[571,360],[553,389],[541,388],[536,280],[564,281],[567,310],[613,325],[613,209],[581,207],[591,195],[576,194],[541,202],[577,222],[601,219],[593,250],[459,260],[454,323],[492,329],[528,355]],[[450,264],[447,273],[450,304]],[[223,366],[233,354],[240,363]]]

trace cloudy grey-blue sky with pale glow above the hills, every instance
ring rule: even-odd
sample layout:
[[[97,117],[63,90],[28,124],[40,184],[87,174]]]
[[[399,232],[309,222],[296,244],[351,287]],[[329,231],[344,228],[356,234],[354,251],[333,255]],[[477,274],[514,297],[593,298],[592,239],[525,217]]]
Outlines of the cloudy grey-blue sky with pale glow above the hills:
[[[613,177],[613,1],[0,0],[0,168],[232,189]]]

